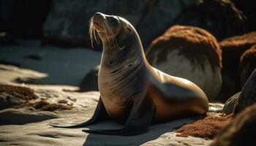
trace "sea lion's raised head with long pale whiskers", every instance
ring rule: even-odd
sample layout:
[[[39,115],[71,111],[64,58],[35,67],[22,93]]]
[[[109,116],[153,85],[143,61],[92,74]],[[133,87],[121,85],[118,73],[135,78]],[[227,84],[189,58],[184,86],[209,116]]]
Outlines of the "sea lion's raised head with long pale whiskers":
[[[137,32],[132,24],[116,15],[105,15],[96,12],[89,21],[91,45],[94,41],[99,44],[99,40],[101,40],[103,46],[122,50],[124,49],[124,45],[122,45],[124,42],[129,41],[132,37],[139,39],[138,34],[134,34],[137,34]]]

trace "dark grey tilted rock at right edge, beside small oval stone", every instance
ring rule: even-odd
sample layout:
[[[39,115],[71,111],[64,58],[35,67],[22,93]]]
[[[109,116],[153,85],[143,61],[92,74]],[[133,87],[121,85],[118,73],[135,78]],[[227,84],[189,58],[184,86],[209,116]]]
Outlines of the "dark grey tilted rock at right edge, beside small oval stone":
[[[251,76],[244,85],[243,90],[238,97],[238,103],[236,104],[234,114],[241,112],[246,107],[255,104],[256,101],[256,69],[252,72]]]

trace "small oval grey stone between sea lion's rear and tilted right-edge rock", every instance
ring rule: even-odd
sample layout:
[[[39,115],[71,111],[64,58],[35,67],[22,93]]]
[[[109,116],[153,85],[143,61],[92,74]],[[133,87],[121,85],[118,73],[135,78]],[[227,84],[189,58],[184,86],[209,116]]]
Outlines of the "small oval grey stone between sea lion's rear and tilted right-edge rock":
[[[241,92],[236,93],[235,95],[233,95],[232,97],[230,97],[230,99],[227,99],[227,101],[225,102],[225,105],[223,107],[223,112],[227,115],[233,113],[234,111],[234,107],[236,106],[236,103],[238,101],[238,97],[240,95]]]

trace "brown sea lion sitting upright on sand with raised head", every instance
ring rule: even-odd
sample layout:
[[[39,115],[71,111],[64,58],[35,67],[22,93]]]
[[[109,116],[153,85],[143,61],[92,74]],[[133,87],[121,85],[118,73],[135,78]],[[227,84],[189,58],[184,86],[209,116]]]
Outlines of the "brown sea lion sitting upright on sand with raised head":
[[[148,64],[137,31],[124,18],[97,12],[91,18],[89,34],[92,42],[100,39],[103,44],[97,108],[86,122],[51,126],[75,128],[115,120],[124,128],[83,131],[131,136],[146,133],[151,123],[208,111],[207,96],[197,85]]]

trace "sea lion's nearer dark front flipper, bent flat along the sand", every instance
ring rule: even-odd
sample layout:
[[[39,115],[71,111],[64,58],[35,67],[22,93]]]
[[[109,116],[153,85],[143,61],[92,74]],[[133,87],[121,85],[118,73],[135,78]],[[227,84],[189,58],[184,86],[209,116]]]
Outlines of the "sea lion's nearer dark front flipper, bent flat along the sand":
[[[84,132],[93,134],[108,134],[118,136],[133,136],[144,134],[148,131],[154,116],[155,106],[152,102],[143,105],[135,103],[132,107],[131,114],[121,129],[105,129],[105,130],[83,130]]]

